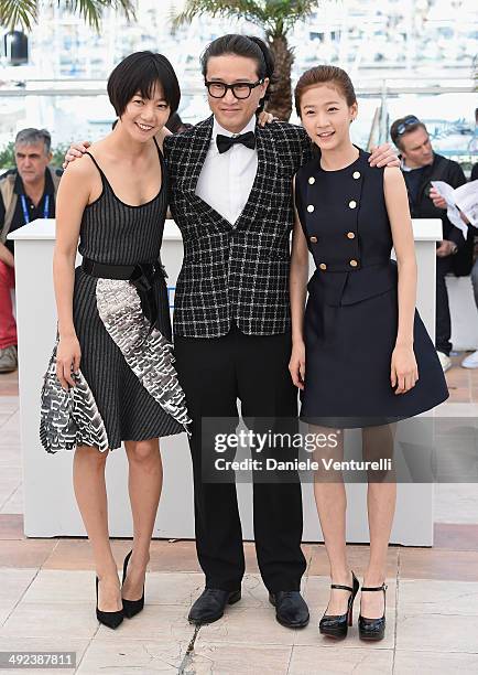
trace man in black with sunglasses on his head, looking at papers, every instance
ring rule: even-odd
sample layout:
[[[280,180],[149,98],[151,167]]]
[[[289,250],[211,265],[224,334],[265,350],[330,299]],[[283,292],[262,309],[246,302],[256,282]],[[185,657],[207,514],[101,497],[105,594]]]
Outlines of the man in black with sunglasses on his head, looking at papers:
[[[443,240],[436,249],[435,346],[445,372],[452,366],[452,321],[445,277],[450,271],[457,276],[469,274],[471,242],[465,242],[461,231],[448,221],[446,208],[437,206],[431,181],[444,181],[452,188],[459,188],[466,183],[466,178],[457,162],[433,151],[425,125],[414,115],[396,119],[390,136],[401,152],[412,217],[439,218],[443,224]],[[465,267],[466,272],[463,271]]]

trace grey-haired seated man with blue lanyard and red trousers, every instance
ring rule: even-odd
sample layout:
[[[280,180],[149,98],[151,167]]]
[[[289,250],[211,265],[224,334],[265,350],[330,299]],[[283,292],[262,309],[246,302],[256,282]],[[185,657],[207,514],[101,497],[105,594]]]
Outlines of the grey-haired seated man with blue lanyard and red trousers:
[[[55,194],[61,170],[48,167],[51,136],[46,129],[23,129],[15,138],[17,168],[0,178],[0,373],[17,368],[17,324],[11,289],[14,288],[14,248],[8,234],[36,218],[55,216]]]

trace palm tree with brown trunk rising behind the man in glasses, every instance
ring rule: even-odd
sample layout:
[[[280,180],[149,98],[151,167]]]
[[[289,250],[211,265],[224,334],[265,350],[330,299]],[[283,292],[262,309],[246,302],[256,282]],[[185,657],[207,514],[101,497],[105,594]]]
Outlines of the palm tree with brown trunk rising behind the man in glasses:
[[[287,34],[300,21],[307,19],[317,7],[317,0],[186,0],[184,11],[173,20],[173,25],[191,22],[207,13],[226,19],[246,19],[259,25],[275,58],[274,83],[271,86],[267,109],[289,120],[292,113],[291,68],[293,50]]]

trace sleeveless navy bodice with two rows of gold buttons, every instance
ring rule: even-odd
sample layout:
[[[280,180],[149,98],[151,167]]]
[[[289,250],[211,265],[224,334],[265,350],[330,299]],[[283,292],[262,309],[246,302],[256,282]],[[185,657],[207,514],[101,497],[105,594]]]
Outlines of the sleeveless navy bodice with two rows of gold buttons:
[[[314,257],[309,290],[332,306],[352,304],[396,286],[396,266],[383,193],[384,169],[359,150],[345,169],[325,171],[319,159],[295,178],[295,203]]]

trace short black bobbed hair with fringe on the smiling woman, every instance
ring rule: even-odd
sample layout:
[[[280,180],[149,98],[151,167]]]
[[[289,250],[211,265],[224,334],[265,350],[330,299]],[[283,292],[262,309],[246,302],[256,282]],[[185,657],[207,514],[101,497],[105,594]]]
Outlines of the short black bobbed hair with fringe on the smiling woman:
[[[169,60],[153,52],[134,52],[123,58],[108,78],[108,96],[118,117],[140,92],[143,98],[151,98],[154,86],[160,84],[171,114],[180,107],[181,89],[176,73]]]

